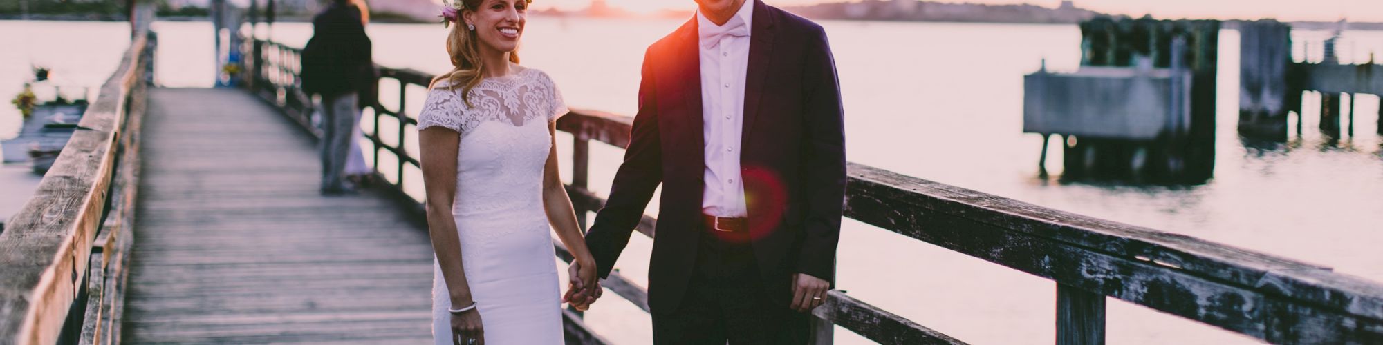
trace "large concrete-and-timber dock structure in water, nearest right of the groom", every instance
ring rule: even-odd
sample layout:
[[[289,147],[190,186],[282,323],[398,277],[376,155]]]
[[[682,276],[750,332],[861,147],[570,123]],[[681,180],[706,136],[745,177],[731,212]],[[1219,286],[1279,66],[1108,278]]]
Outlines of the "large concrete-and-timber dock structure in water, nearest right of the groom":
[[[1043,135],[1043,161],[1047,138],[1062,135],[1062,178],[1209,179],[1218,30],[1217,21],[1083,22],[1079,70],[1025,76],[1023,132]]]

